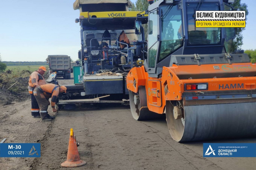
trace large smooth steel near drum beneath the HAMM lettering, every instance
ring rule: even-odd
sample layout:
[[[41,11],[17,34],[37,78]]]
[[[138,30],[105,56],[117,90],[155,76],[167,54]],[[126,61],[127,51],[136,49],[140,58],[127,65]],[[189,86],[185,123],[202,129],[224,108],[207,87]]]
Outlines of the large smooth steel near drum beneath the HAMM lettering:
[[[166,121],[177,142],[256,137],[255,108],[256,102],[184,106],[183,119],[166,101]]]

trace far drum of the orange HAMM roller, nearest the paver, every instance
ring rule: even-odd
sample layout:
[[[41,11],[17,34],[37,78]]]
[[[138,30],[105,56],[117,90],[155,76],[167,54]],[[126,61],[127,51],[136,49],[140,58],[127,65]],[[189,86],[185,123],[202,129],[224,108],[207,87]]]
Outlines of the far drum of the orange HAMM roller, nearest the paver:
[[[131,114],[135,120],[150,120],[165,118],[164,114],[149,111],[147,107],[147,95],[144,86],[139,87],[138,93],[129,91]]]

